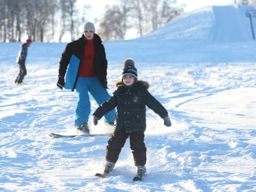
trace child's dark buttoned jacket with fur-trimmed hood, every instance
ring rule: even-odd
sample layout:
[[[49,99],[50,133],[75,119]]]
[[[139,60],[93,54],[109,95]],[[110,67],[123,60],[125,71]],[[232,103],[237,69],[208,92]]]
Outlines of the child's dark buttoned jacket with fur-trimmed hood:
[[[113,96],[93,113],[101,119],[105,113],[117,107],[116,130],[127,133],[146,130],[146,105],[161,118],[168,115],[165,107],[149,93],[148,82],[138,80],[128,87],[119,81],[116,86],[118,88]]]

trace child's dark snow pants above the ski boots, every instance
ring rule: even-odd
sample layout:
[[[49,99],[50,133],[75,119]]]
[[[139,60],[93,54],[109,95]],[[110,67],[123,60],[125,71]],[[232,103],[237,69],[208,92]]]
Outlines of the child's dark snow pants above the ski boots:
[[[132,149],[135,166],[145,165],[147,149],[144,143],[143,131],[126,133],[115,130],[112,137],[108,140],[106,160],[112,163],[117,162],[121,149],[124,147],[128,137],[130,137],[130,149]]]

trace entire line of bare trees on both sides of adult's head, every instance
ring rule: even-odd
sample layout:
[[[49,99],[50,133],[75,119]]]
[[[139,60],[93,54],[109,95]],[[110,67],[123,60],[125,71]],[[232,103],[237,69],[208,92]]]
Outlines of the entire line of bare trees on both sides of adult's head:
[[[102,18],[97,18],[97,33],[104,40],[118,40],[133,29],[141,37],[180,15],[183,9],[175,5],[176,0],[117,0],[105,7]],[[61,42],[65,35],[76,40],[90,9],[89,5],[78,9],[77,0],[0,0],[0,41],[30,38],[49,42],[57,36]]]

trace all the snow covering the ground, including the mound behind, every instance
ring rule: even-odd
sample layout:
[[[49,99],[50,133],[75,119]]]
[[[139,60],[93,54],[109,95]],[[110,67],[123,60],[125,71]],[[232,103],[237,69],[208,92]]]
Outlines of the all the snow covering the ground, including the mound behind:
[[[33,43],[21,86],[13,84],[20,43],[1,43],[0,191],[256,191],[256,46],[247,9],[205,7],[146,37],[104,42],[110,94],[132,57],[171,116],[165,127],[147,111],[143,182],[132,181],[129,141],[112,175],[96,179],[108,137],[48,136],[75,132],[76,94],[55,85],[66,43]],[[90,129],[112,131],[91,119]]]

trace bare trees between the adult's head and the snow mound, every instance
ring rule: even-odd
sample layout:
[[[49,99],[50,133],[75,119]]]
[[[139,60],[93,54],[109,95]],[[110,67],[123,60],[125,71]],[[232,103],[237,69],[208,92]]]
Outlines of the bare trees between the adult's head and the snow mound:
[[[124,39],[132,30],[137,37],[152,32],[183,13],[176,0],[126,0],[107,6],[99,33],[108,40]]]

